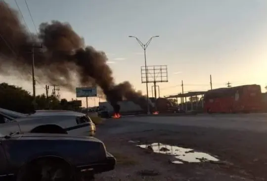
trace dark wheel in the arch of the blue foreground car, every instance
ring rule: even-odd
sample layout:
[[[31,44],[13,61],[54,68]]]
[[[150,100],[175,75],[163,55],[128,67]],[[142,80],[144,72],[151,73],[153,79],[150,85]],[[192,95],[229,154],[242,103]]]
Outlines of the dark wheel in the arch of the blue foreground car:
[[[17,181],[76,181],[75,172],[65,161],[38,159],[24,166]]]

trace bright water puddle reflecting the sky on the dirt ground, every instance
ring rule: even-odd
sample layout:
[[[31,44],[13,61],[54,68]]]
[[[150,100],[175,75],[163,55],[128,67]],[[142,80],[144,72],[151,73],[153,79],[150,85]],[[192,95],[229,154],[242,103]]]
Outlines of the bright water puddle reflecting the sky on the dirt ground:
[[[172,163],[175,164],[219,161],[219,159],[214,156],[211,156],[210,154],[194,151],[190,148],[183,148],[162,143],[137,144],[137,146],[139,146],[140,148],[151,150],[154,153],[172,155],[175,158]]]

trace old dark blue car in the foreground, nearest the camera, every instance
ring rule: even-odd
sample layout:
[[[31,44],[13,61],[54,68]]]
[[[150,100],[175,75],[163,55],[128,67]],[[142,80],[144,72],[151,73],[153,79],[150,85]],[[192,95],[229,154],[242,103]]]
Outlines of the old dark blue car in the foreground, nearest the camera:
[[[0,132],[0,163],[0,181],[89,181],[116,159],[94,137]]]

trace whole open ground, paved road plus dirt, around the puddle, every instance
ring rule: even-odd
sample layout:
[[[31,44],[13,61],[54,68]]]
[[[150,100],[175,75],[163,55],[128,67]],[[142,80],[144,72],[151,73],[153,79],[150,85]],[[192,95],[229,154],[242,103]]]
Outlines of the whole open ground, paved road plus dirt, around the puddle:
[[[264,181],[267,180],[266,115],[124,117],[108,119],[97,135],[113,153],[114,171],[96,181]],[[215,124],[216,123],[216,124]],[[194,126],[192,126],[194,125]],[[219,162],[171,163],[174,156],[139,148],[160,142],[216,156]]]

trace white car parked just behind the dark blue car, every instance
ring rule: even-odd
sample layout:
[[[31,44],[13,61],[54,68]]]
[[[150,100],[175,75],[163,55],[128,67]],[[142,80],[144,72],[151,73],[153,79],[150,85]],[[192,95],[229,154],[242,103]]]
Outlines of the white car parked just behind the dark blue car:
[[[3,133],[58,133],[94,136],[96,128],[86,114],[75,111],[42,110],[26,115],[0,109],[0,131]]]

